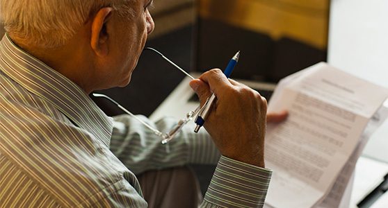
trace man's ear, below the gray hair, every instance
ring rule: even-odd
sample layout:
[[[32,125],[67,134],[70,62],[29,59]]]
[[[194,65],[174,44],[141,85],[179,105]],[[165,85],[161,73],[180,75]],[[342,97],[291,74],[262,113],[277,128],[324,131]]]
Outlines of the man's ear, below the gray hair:
[[[108,38],[109,34],[106,29],[106,22],[111,17],[113,8],[104,7],[98,10],[92,19],[92,30],[90,35],[90,46],[99,56],[108,55]]]

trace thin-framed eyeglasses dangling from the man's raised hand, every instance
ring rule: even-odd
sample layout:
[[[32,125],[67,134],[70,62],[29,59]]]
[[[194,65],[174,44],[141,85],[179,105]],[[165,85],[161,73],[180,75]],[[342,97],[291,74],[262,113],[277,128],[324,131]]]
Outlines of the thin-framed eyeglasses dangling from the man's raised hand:
[[[172,62],[171,60],[166,58],[162,53],[160,53],[159,51],[156,51],[156,49],[152,49],[152,48],[147,47],[144,50],[150,50],[150,51],[154,51],[155,53],[158,53],[159,55],[161,55],[161,57],[164,60],[168,61],[176,69],[179,69],[179,71],[183,72],[186,76],[190,77],[191,79],[194,79],[193,76],[191,76],[186,71],[184,71],[184,69],[181,69],[181,67],[179,67],[177,64],[175,64],[174,62]],[[184,127],[184,125],[186,125],[186,123],[188,123],[188,121],[191,121],[194,118],[194,116],[197,115],[198,112],[200,112],[200,110],[201,110],[201,107],[199,105],[197,107],[197,109],[195,109],[195,110],[193,110],[191,112],[188,112],[186,114],[186,116],[184,117],[184,119],[180,119],[178,121],[178,123],[171,128],[171,130],[169,132],[161,132],[161,131],[157,130],[156,128],[153,128],[151,125],[145,123],[142,119],[139,119],[138,116],[136,116],[136,115],[132,114],[131,112],[129,112],[129,110],[127,110],[125,107],[120,105],[118,102],[116,102],[115,100],[113,100],[109,96],[106,96],[105,94],[97,94],[97,93],[93,93],[92,96],[106,98],[108,101],[111,101],[112,103],[117,105],[122,111],[124,111],[125,113],[129,114],[130,116],[133,116],[134,119],[138,120],[140,123],[143,123],[143,125],[145,125],[145,127],[149,128],[149,130],[152,130],[152,132],[154,132],[155,135],[158,135],[159,137],[161,137],[161,139],[162,139],[161,143],[162,144],[166,144],[166,143],[168,143],[168,141],[173,139],[180,132],[180,130]]]

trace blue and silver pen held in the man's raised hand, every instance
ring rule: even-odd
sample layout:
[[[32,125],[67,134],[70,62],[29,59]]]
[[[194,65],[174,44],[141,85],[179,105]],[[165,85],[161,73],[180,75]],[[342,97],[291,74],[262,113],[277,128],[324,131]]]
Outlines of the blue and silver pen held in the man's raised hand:
[[[240,57],[240,51],[234,55],[234,57],[229,60],[229,63],[227,64],[227,67],[224,70],[224,74],[227,78],[229,78],[230,74],[232,73],[234,66],[236,66],[237,62],[239,62]],[[216,96],[214,94],[211,94],[210,98],[207,98],[206,103],[198,113],[197,118],[195,119],[195,123],[197,123],[197,126],[195,126],[194,132],[198,132],[202,125],[204,125],[205,119],[207,119],[207,116],[210,113],[210,108],[213,105],[214,101],[216,100]]]

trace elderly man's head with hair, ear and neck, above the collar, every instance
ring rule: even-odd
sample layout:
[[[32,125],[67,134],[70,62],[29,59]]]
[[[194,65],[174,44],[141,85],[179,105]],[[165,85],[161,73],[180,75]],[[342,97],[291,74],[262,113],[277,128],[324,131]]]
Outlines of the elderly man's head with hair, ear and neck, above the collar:
[[[0,0],[0,15],[16,44],[90,92],[129,83],[154,29],[150,3]]]

